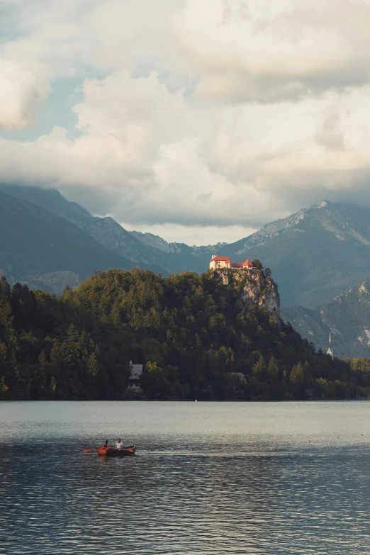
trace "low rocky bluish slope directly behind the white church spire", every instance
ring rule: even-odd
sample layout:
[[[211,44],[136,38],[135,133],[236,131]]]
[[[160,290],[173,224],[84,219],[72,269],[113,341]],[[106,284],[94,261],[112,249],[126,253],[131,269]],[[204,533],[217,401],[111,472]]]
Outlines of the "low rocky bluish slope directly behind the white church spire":
[[[370,357],[370,278],[315,310],[284,308],[282,317],[325,352],[331,332],[338,357]]]

